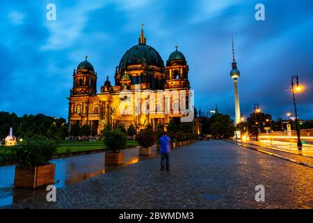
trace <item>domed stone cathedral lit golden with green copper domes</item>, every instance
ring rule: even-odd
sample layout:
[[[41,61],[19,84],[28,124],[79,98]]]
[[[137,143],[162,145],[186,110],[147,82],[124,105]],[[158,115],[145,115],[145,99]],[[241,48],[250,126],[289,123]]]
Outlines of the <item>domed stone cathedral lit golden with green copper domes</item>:
[[[71,125],[73,123],[87,124],[92,135],[98,135],[106,125],[110,125],[113,129],[122,125],[127,129],[133,124],[138,131],[149,123],[153,128],[161,124],[166,130],[171,118],[179,121],[184,116],[181,112],[178,114],[175,112],[168,114],[164,111],[150,112],[150,114],[121,114],[118,109],[122,100],[121,91],[127,89],[135,93],[135,86],[140,86],[140,91],[148,89],[153,92],[176,90],[179,93],[190,89],[186,58],[177,50],[177,45],[175,47],[176,50],[170,54],[164,66],[159,52],[146,44],[142,25],[138,45],[128,49],[115,68],[115,84],[111,84],[109,77],[106,77],[100,93],[97,93],[97,72],[86,56],[86,60],[79,63],[77,70],[73,73],[73,87],[68,98],[70,100],[69,123]],[[170,102],[170,107],[172,109],[172,102]],[[195,125],[199,123],[196,122]],[[193,128],[194,133],[198,133],[195,126]]]

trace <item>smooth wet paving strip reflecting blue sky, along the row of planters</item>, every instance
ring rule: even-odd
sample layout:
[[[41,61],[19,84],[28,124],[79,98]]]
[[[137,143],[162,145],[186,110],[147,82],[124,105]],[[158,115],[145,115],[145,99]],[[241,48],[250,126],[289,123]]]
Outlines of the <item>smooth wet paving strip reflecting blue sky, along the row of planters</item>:
[[[106,165],[105,153],[93,153],[64,157],[51,162],[56,164],[55,185],[57,188],[74,183],[79,183],[88,178],[105,174],[109,171],[135,164],[141,160],[150,159],[159,155],[156,146],[152,146],[152,155],[139,155],[139,146],[123,151],[123,164],[119,166]],[[15,165],[0,167],[0,207],[8,206],[17,201],[28,199],[42,193],[47,193],[45,187],[37,190],[15,188],[13,190]]]

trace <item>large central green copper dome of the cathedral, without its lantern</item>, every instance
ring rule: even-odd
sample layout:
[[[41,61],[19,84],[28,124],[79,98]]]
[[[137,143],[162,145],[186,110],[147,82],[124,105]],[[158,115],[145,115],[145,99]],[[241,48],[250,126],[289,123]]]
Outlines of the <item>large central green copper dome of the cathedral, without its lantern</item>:
[[[133,64],[164,67],[163,60],[157,50],[145,44],[138,44],[127,50],[120,60],[119,68],[125,68],[126,66]]]

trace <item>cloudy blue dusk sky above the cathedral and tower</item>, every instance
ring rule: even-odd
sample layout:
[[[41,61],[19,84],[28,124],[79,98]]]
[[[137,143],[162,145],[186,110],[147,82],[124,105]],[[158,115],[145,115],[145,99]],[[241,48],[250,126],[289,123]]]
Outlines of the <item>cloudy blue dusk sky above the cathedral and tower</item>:
[[[56,21],[46,19],[56,4]],[[264,3],[266,20],[255,20]],[[290,77],[297,74],[305,92],[296,95],[300,118],[313,118],[313,1],[16,1],[2,0],[0,24],[0,111],[67,118],[72,72],[93,63],[97,89],[131,46],[141,23],[147,45],[163,61],[179,45],[186,56],[195,105],[234,117],[230,78],[234,34],[241,113],[262,111],[282,117],[293,111]]]

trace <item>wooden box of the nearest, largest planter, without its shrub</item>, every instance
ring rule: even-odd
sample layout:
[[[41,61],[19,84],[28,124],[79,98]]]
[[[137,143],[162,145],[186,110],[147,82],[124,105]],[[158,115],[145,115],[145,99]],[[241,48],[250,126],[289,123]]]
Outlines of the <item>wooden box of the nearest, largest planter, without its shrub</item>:
[[[45,164],[38,167],[15,167],[14,187],[35,189],[54,184],[56,164]]]

